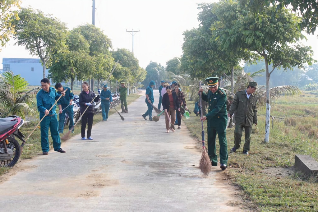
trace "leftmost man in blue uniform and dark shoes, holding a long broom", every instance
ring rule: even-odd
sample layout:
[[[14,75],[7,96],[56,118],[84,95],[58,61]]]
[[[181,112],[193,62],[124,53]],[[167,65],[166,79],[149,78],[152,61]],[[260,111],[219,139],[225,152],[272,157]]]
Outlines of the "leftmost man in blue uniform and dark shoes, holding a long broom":
[[[56,105],[55,100],[59,99],[59,94],[55,91],[54,87],[50,87],[50,80],[44,78],[41,80],[42,89],[37,93],[37,106],[38,111],[40,112],[40,120],[45,116],[41,121],[41,147],[44,155],[49,154],[49,127],[51,131],[51,137],[53,140],[54,151],[60,153],[66,153],[61,148],[61,140],[59,137],[59,123],[57,119],[57,114],[55,112]],[[65,95],[65,92],[62,91],[61,95]],[[53,106],[53,107],[52,107]],[[49,111],[49,109],[52,109]]]

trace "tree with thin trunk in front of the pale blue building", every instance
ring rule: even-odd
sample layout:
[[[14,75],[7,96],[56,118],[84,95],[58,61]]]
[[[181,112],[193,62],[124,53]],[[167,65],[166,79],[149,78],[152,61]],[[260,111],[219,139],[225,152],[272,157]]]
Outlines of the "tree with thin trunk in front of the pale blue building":
[[[20,20],[14,21],[16,44],[25,46],[31,55],[38,56],[45,70],[52,63],[52,54],[66,49],[66,24],[52,16],[45,16],[40,10],[22,8],[18,13]]]

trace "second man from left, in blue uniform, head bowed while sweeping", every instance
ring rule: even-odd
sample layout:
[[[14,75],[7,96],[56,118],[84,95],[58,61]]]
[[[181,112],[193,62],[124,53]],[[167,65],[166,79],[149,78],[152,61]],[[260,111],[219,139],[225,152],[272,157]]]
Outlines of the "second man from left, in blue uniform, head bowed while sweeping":
[[[68,115],[68,120],[70,122],[70,126],[68,127],[68,130],[71,130],[74,127],[74,111],[73,111],[73,99],[74,94],[69,87],[63,87],[61,83],[55,84],[56,90],[58,90],[58,94],[61,94],[61,92],[65,92],[65,96],[63,96],[58,101],[58,106],[60,105],[61,108],[59,108],[59,133],[63,133],[64,131],[64,121],[65,121],[65,113]],[[67,89],[67,91],[66,91]],[[59,107],[60,107],[59,106]],[[74,129],[72,130],[73,133]]]

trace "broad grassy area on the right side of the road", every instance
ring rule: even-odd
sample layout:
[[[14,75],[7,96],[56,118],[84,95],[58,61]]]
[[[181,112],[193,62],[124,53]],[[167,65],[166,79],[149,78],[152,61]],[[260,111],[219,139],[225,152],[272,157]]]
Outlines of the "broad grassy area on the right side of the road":
[[[191,111],[193,102],[187,102]],[[290,176],[267,174],[265,168],[290,168],[295,154],[306,154],[318,161],[318,99],[312,94],[281,97],[272,105],[274,122],[270,129],[270,142],[264,143],[265,108],[259,108],[259,121],[253,127],[250,155],[229,153],[228,176],[258,211],[318,211],[317,178],[300,172]],[[307,110],[306,110],[307,109]],[[201,147],[201,122],[192,115],[183,121]],[[272,119],[271,119],[272,120]],[[292,123],[292,125],[290,125]],[[273,128],[272,128],[273,127]],[[305,129],[305,127],[307,129]],[[204,123],[206,132],[206,122]],[[317,134],[315,134],[315,132]],[[234,128],[227,129],[228,151],[234,144]],[[244,134],[242,137],[244,140]],[[243,141],[244,142],[244,141]],[[217,152],[218,139],[217,139]]]

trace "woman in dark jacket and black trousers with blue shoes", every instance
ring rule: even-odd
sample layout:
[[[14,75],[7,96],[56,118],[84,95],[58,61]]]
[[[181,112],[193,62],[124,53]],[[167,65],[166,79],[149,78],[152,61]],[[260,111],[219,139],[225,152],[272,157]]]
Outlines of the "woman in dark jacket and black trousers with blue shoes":
[[[93,117],[94,117],[94,106],[96,105],[95,102],[92,100],[95,100],[95,93],[93,91],[90,91],[89,85],[87,82],[83,82],[82,89],[83,91],[79,94],[79,105],[80,105],[80,113],[83,114],[82,116],[82,127],[81,127],[81,134],[82,134],[82,140],[93,140],[91,137],[92,133],[92,126],[93,126]],[[91,103],[92,102],[92,103]],[[85,138],[85,129],[86,129],[86,123],[87,123],[87,138]]]

